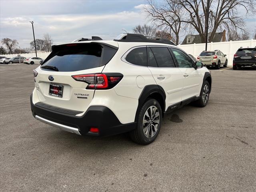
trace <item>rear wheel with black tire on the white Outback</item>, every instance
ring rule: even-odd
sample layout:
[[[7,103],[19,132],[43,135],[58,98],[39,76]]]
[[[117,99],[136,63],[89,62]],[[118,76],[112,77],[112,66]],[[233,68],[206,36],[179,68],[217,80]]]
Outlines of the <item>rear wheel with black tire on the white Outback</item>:
[[[158,114],[157,114],[157,110],[158,110],[159,118],[156,119],[156,118],[154,118],[154,116],[152,117],[152,115],[150,115],[150,117],[152,117],[153,120],[150,121],[150,117],[149,117],[149,120],[148,121],[146,120],[146,123],[143,124],[144,118],[147,118],[146,114],[148,114],[147,112],[150,112],[151,107],[154,107],[154,109],[152,111],[155,111],[155,115],[157,117],[158,117]],[[154,122],[154,119],[156,121],[159,120],[159,124]],[[152,126],[152,124],[154,127]],[[150,144],[158,136],[158,133],[161,128],[161,124],[162,124],[161,106],[157,100],[149,99],[144,103],[144,105],[140,109],[140,113],[138,115],[137,127],[135,130],[130,132],[130,138],[138,144],[142,144],[142,145]],[[144,131],[143,131],[143,126],[144,126],[144,130],[146,130],[146,133],[148,133],[148,137],[146,136],[146,133],[144,133]],[[155,129],[156,126],[157,126],[157,130]],[[153,129],[154,129],[154,131],[153,131]],[[151,134],[150,134],[150,132],[151,132]]]

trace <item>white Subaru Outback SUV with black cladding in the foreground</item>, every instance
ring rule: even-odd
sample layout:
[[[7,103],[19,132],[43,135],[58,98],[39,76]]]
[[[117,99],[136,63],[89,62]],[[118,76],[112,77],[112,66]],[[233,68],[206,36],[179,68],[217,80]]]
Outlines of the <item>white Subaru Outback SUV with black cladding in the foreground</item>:
[[[170,40],[121,34],[52,46],[34,81],[37,120],[79,135],[130,132],[149,144],[164,114],[190,102],[206,106],[212,77]]]

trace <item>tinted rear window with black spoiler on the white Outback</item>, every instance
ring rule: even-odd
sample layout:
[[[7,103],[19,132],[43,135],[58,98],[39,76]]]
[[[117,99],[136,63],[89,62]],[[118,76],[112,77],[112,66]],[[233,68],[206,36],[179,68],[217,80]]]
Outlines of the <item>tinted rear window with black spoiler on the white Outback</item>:
[[[42,66],[53,66],[62,72],[96,68],[106,65],[116,51],[112,47],[97,43],[56,46]]]

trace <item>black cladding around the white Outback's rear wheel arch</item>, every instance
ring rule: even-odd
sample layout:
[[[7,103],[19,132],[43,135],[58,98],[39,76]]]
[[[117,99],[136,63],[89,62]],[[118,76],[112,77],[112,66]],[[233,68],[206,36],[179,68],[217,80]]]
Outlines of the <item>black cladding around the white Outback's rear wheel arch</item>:
[[[135,122],[137,122],[138,120],[138,114],[140,113],[140,109],[142,108],[143,104],[146,102],[148,98],[156,99],[162,108],[162,113],[164,113],[166,99],[164,89],[159,85],[147,85],[143,88],[138,99],[138,107],[136,110],[136,116],[134,120]]]

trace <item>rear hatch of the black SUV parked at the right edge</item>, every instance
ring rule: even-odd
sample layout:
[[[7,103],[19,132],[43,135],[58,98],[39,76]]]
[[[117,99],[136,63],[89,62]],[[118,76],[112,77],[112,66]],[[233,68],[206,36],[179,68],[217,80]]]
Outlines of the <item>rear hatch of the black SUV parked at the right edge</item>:
[[[256,62],[256,48],[239,49],[234,54],[234,60],[236,62]]]

